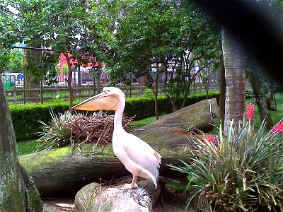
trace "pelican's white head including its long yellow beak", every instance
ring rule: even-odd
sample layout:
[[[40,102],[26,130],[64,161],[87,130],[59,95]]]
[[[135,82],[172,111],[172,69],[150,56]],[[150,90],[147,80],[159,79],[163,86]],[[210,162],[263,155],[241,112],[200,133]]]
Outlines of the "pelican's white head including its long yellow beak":
[[[71,107],[73,110],[117,110],[120,103],[125,105],[125,94],[120,88],[105,87],[102,93]]]

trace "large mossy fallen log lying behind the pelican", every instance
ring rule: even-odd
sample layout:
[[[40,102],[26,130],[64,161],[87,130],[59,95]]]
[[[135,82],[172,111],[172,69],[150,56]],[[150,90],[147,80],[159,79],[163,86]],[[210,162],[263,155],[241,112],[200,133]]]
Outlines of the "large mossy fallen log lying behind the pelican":
[[[161,154],[160,175],[170,177],[179,175],[168,167],[168,164],[179,164],[180,160],[187,161],[190,158],[188,141],[189,134],[185,126],[190,126],[190,122],[181,117],[187,117],[191,120],[194,115],[201,115],[200,111],[207,116],[207,126],[211,122],[209,105],[215,106],[216,100],[202,101],[202,104],[195,104],[195,110],[187,109],[183,112],[174,112],[180,118],[175,119],[175,124],[171,118],[166,118],[170,124],[162,124],[164,120],[158,121],[160,124],[149,124],[141,130],[134,131],[141,139],[149,143],[158,153]],[[206,105],[206,106],[205,106]],[[202,109],[201,109],[202,108]],[[206,110],[204,109],[206,108]],[[214,109],[213,111],[216,111]],[[186,114],[189,113],[189,114]],[[174,118],[170,114],[168,117]],[[198,119],[198,117],[195,117]],[[204,118],[203,118],[204,119]],[[202,119],[202,121],[203,121]],[[181,122],[183,120],[183,122]],[[193,122],[193,120],[192,120]],[[193,122],[196,123],[196,122]],[[193,124],[196,126],[196,124]],[[66,192],[77,192],[81,187],[91,182],[100,182],[101,180],[110,181],[111,179],[129,175],[124,165],[120,163],[109,144],[102,151],[98,146],[83,145],[81,148],[57,148],[19,157],[21,165],[25,167],[34,181],[41,196],[54,196],[65,194]]]

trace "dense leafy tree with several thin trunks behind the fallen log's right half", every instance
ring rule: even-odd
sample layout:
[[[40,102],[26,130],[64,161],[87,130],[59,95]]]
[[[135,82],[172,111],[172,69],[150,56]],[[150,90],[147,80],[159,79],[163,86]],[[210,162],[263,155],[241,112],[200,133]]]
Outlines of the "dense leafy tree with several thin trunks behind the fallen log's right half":
[[[209,27],[212,22],[207,16],[180,2],[130,1],[117,20],[115,35],[115,74],[122,78],[129,72],[148,76],[156,95],[154,88],[163,77],[162,91],[171,100],[173,111],[185,105],[190,83],[198,73],[191,76],[192,67],[198,63],[201,71],[214,62],[219,37]],[[151,66],[156,67],[154,75]]]

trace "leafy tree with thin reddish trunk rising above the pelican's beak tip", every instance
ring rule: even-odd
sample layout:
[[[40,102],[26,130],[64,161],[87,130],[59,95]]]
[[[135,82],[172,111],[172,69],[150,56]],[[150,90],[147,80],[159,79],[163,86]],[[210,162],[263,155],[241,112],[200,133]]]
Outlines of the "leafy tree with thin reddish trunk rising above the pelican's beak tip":
[[[18,40],[25,40],[30,47],[49,48],[54,51],[27,52],[26,67],[30,75],[42,80],[47,75],[55,76],[59,55],[64,54],[68,66],[69,106],[74,100],[72,72],[78,66],[86,66],[88,62],[95,64],[103,61],[107,47],[103,42],[107,18],[103,18],[103,10],[97,1],[7,1],[18,11]],[[39,54],[37,54],[39,53]],[[36,58],[36,59],[35,59]],[[47,74],[48,73],[48,74]],[[34,81],[34,80],[32,80]]]

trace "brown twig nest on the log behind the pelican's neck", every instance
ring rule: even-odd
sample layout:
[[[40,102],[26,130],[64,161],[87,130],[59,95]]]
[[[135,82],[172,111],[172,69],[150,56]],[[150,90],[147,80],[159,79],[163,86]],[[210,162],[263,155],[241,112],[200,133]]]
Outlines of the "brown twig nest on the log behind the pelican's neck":
[[[129,128],[132,118],[123,117],[122,126]],[[98,146],[107,146],[112,141],[114,130],[114,115],[108,115],[103,112],[92,114],[89,117],[76,117],[66,123],[71,131],[71,146],[80,146],[83,143],[93,143]]]

